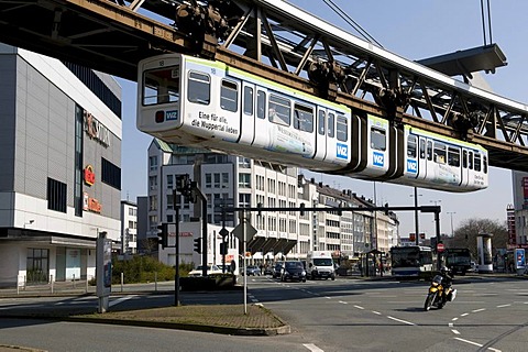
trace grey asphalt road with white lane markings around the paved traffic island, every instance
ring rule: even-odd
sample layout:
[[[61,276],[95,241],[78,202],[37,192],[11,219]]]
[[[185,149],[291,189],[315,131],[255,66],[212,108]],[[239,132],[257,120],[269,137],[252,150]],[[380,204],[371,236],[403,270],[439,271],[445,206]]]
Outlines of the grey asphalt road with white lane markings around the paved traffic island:
[[[77,322],[0,319],[0,344],[50,351],[525,351],[528,282],[457,278],[459,295],[443,309],[422,309],[427,283],[343,279],[280,283],[249,280],[249,302],[261,302],[292,326],[292,334],[230,337],[190,331]],[[184,305],[240,304],[237,293],[186,293]],[[113,308],[155,302],[172,295],[112,297]],[[0,299],[4,309],[96,305],[94,297]],[[69,338],[64,338],[69,337]],[[177,348],[175,345],[177,342]]]

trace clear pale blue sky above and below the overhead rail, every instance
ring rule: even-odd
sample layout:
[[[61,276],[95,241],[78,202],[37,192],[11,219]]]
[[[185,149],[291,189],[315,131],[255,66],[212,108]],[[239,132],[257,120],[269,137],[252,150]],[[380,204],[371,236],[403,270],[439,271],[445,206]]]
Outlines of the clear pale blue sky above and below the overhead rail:
[[[337,26],[355,33],[322,0],[293,0],[292,3]],[[333,0],[356,23],[369,32],[385,50],[408,59],[420,59],[483,45],[480,0]],[[507,57],[508,65],[485,79],[498,95],[526,102],[528,86],[522,79],[524,65],[528,58],[526,40],[528,28],[524,25],[528,1],[491,1],[492,37]],[[135,201],[147,189],[146,148],[152,139],[135,128],[136,85],[118,79],[123,88],[123,144],[122,144],[122,199]],[[374,198],[374,185],[348,177],[305,173],[317,182],[338,189],[351,189],[359,195]],[[414,188],[376,183],[376,199],[380,205],[414,206]],[[453,227],[469,218],[487,218],[506,221],[506,207],[513,204],[512,173],[491,168],[490,187],[471,194],[449,194],[418,189],[419,205],[442,207],[441,232],[451,232]],[[440,201],[440,202],[439,202]],[[450,215],[448,212],[455,212]],[[400,234],[415,232],[414,213],[398,212]],[[435,233],[431,215],[420,217],[420,232],[428,237]]]

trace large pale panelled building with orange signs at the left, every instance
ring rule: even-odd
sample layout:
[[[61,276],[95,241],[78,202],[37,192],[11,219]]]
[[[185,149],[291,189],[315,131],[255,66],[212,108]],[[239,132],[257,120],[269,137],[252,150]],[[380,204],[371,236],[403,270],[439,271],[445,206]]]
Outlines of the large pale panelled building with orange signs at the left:
[[[66,65],[0,44],[2,286],[90,279],[120,242],[121,88]]]

